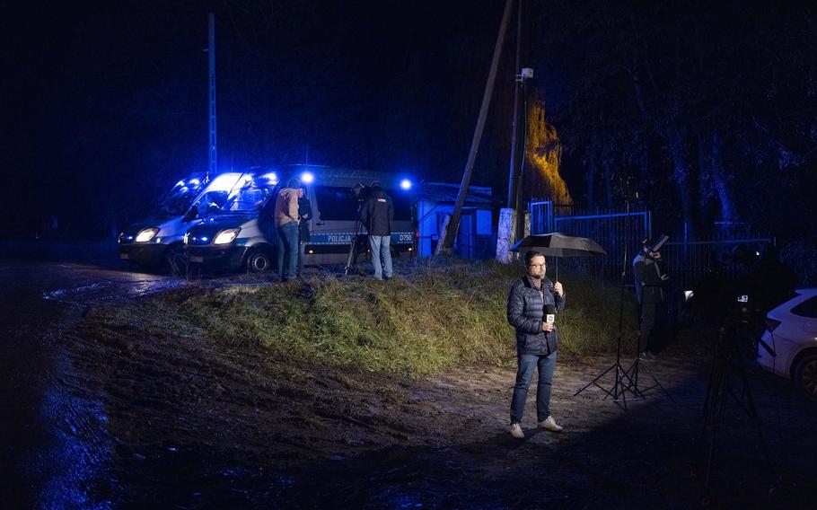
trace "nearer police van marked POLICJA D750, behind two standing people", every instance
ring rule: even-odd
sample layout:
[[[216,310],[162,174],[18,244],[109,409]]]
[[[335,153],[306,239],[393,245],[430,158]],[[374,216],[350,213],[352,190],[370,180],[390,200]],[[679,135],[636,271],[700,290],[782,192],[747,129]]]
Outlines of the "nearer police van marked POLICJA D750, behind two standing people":
[[[416,253],[417,222],[411,182],[393,175],[316,165],[290,165],[260,176],[280,176],[272,180],[251,180],[235,192],[222,213],[211,215],[189,229],[185,253],[191,264],[213,270],[263,272],[275,266],[277,233],[273,211],[278,190],[291,178],[301,181],[312,206],[309,225],[311,240],[304,248],[304,264],[345,264],[352,242],[358,241],[365,253],[365,227],[358,221],[367,189],[379,181],[394,204],[391,223],[391,250],[397,257]],[[244,194],[252,198],[242,198]]]

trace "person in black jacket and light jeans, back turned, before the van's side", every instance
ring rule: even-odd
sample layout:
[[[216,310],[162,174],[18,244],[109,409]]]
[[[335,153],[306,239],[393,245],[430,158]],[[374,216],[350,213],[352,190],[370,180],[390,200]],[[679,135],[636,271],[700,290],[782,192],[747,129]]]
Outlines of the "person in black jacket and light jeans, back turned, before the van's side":
[[[369,198],[360,209],[360,222],[369,232],[369,247],[372,248],[374,277],[381,280],[391,278],[391,222],[394,220],[394,204],[375,180],[369,191]]]

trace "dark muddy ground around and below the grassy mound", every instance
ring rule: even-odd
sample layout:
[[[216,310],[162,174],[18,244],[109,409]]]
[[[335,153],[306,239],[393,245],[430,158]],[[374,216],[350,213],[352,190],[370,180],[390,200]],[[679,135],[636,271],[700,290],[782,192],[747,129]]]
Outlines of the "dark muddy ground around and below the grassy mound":
[[[22,268],[12,269],[19,277]],[[32,277],[61,270],[24,269]],[[506,430],[513,359],[409,380],[311,366],[192,334],[88,330],[82,317],[94,308],[127,306],[175,284],[119,273],[79,278],[82,271],[68,268],[73,287],[39,293],[41,305],[6,303],[19,312],[8,319],[18,332],[12,338],[29,339],[31,323],[40,324],[38,345],[48,344],[40,354],[52,360],[32,369],[44,374],[32,379],[37,384],[13,379],[15,394],[37,396],[17,403],[29,409],[22,418],[40,417],[32,418],[31,435],[43,438],[28,442],[40,444],[39,453],[27,454],[20,441],[10,449],[33,466],[15,475],[36,489],[34,507],[701,505],[705,337],[682,334],[686,340],[664,350],[649,367],[668,394],[628,395],[626,411],[595,387],[574,396],[614,359],[559,359],[552,409],[566,430],[534,429],[533,390],[520,441]],[[16,347],[15,364],[30,346]],[[771,462],[752,422],[730,402],[709,506],[812,508],[817,406],[775,376],[751,370],[749,378]],[[601,383],[610,387],[611,378]],[[641,388],[649,383],[642,372]],[[14,423],[14,434],[26,431],[23,420]]]

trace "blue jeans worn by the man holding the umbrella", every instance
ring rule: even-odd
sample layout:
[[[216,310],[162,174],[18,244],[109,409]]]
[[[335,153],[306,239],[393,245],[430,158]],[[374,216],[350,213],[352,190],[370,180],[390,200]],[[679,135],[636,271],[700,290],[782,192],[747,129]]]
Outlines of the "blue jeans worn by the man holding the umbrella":
[[[553,385],[553,371],[556,369],[556,353],[548,356],[517,354],[516,385],[511,399],[511,423],[522,423],[528,388],[533,381],[533,373],[539,368],[539,382],[536,385],[536,421],[550,416],[550,388]]]

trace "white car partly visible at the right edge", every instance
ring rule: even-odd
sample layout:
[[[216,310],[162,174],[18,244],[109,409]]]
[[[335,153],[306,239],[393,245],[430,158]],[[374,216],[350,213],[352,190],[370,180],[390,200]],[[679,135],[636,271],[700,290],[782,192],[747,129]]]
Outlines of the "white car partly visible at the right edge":
[[[766,314],[760,338],[777,356],[758,345],[760,366],[787,379],[817,400],[817,287],[795,291],[795,297]]]

